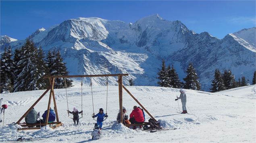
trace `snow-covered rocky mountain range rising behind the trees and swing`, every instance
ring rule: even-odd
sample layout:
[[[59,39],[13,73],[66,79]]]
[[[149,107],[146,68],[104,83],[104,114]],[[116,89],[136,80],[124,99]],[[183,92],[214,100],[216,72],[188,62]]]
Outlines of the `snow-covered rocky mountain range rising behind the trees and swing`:
[[[237,79],[250,80],[255,70],[255,27],[218,39],[154,14],[133,24],[94,17],[69,19],[32,35],[45,51],[61,50],[70,75],[129,73],[124,83],[133,78],[135,85],[157,85],[162,60],[174,64],[180,79],[193,62],[202,89],[209,90],[215,68],[231,69]],[[10,45],[19,48],[23,42]],[[106,84],[104,78],[92,80],[95,85]],[[109,83],[116,85],[116,80],[109,78]],[[89,84],[89,79],[84,81]]]

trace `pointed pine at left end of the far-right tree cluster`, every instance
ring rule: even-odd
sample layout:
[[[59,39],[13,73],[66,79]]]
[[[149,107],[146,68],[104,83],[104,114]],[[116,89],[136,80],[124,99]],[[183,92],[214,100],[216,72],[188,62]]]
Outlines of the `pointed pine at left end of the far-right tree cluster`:
[[[215,69],[214,72],[214,79],[212,80],[212,88],[210,89],[210,92],[215,93],[218,91],[225,90],[225,86],[221,77],[221,72],[219,69]]]

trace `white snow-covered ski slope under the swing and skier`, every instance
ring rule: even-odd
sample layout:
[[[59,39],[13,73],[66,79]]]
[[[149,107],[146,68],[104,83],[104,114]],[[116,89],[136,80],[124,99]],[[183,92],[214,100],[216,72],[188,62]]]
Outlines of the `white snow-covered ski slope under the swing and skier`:
[[[185,90],[187,95],[187,111],[179,114],[181,103],[175,101],[179,89],[164,87],[127,86],[127,89],[146,109],[167,129],[150,133],[132,130],[123,125],[112,127],[119,111],[118,86],[108,87],[108,119],[103,122],[102,139],[106,142],[156,142],[156,143],[254,143],[256,140],[256,85],[240,87],[218,93]],[[94,112],[100,108],[106,113],[106,87],[93,87]],[[17,122],[29,107],[44,93],[44,90],[0,94],[3,104],[8,105],[5,111],[4,127],[0,127],[0,142],[9,142],[19,137],[32,137],[34,142],[96,142],[91,138],[94,121],[92,93],[89,87],[83,87],[83,118],[80,125],[73,125],[67,115],[67,99],[65,89],[55,89],[57,109],[63,125],[56,129],[42,127],[41,130],[17,131],[19,125],[6,125]],[[41,115],[47,109],[49,94],[35,106]],[[81,110],[81,88],[67,89],[69,110],[76,107]],[[123,90],[123,106],[131,113],[133,106],[139,106]],[[51,107],[53,108],[53,102]],[[180,107],[180,109],[179,109]],[[72,117],[72,116],[71,116]],[[3,116],[2,116],[3,118]],[[146,114],[146,121],[150,119]],[[22,122],[24,122],[23,119]]]

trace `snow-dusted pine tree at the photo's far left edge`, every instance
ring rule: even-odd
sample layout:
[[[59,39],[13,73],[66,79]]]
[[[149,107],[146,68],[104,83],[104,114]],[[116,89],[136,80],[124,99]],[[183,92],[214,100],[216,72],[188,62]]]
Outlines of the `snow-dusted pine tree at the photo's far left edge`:
[[[14,62],[11,56],[11,48],[5,47],[0,60],[0,93],[10,93],[13,90]]]

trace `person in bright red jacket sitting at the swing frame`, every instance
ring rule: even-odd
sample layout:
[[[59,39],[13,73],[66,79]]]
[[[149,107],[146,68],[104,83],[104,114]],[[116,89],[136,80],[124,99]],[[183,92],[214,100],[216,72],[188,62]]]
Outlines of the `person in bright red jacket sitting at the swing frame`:
[[[142,124],[144,122],[142,110],[137,106],[133,106],[133,111],[130,114],[130,122],[132,124]]]

